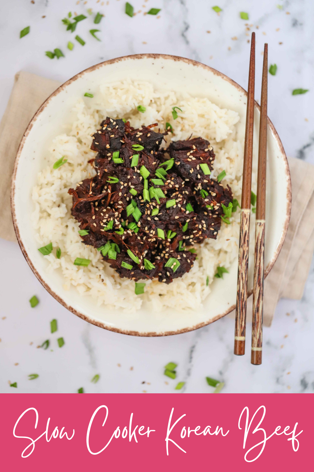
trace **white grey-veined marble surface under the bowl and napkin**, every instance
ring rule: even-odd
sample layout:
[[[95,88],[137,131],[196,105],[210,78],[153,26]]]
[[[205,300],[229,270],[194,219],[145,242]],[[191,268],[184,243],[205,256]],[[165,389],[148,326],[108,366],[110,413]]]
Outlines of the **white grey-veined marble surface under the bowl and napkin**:
[[[122,0],[6,3],[0,16],[0,115],[7,105],[14,74],[21,69],[65,81],[102,60],[143,52],[199,60],[247,88],[248,35],[254,30],[256,98],[260,94],[260,53],[267,41],[269,63],[278,66],[276,76],[269,75],[268,79],[269,117],[286,153],[314,163],[312,0],[130,3],[135,12],[141,10],[133,18],[124,14]],[[217,4],[223,8],[219,16],[211,9]],[[143,15],[152,7],[161,8],[160,17]],[[104,13],[105,18],[100,25],[94,25],[92,17],[82,21],[75,34],[86,44],[82,47],[72,39],[75,47],[68,51],[66,44],[74,35],[65,31],[61,19],[70,10],[81,14],[87,8]],[[249,13],[249,21],[239,17],[240,10]],[[27,25],[31,26],[30,34],[19,39],[19,31]],[[89,34],[94,26],[101,30],[101,42]],[[56,47],[65,58],[45,57],[44,51]],[[291,95],[293,89],[301,87],[310,92]],[[250,364],[250,349],[243,357],[233,355],[234,323],[229,318],[174,337],[137,338],[111,333],[89,325],[57,303],[32,274],[16,243],[0,240],[0,253],[0,392],[74,393],[83,387],[87,393],[174,393],[177,381],[182,380],[186,384],[180,392],[211,393],[206,376],[224,381],[225,393],[314,391],[313,264],[302,300],[282,300],[272,327],[264,329],[263,364],[257,367]],[[40,304],[32,309],[28,300],[34,294]],[[58,331],[50,334],[53,318],[58,320]],[[56,342],[60,336],[65,341],[61,349]],[[250,326],[247,336],[250,339]],[[47,338],[51,349],[37,349]],[[178,363],[176,380],[163,375],[162,367],[169,361]],[[39,378],[28,380],[31,373],[38,373]],[[90,379],[97,373],[100,380],[94,385]],[[10,388],[8,381],[17,382],[17,388]]]

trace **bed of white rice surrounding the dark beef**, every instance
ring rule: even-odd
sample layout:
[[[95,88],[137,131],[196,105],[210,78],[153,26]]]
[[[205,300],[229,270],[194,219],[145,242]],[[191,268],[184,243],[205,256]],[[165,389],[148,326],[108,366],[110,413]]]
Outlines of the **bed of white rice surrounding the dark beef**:
[[[144,105],[146,111],[137,111],[137,105]],[[178,118],[173,120],[172,107],[178,106]],[[80,99],[73,111],[76,119],[66,133],[56,136],[47,150],[49,165],[38,174],[38,185],[32,190],[35,210],[32,222],[36,229],[39,247],[52,242],[54,250],[47,256],[47,271],[59,270],[66,290],[73,285],[81,296],[97,299],[98,305],[109,309],[135,312],[149,303],[150,310],[156,312],[166,308],[198,311],[210,293],[217,266],[230,267],[238,255],[240,211],[232,213],[231,224],[222,223],[217,239],[207,239],[195,244],[198,260],[182,278],[176,278],[166,285],[157,280],[143,280],[145,294],[135,295],[134,281],[120,278],[102,260],[101,254],[93,247],[82,244],[78,230],[79,223],[71,216],[72,197],[67,193],[86,177],[95,175],[88,160],[95,157],[90,150],[91,135],[100,122],[110,116],[127,118],[131,125],[158,123],[164,129],[169,122],[175,136],[166,139],[187,139],[201,136],[208,139],[216,153],[213,177],[225,170],[222,183],[229,184],[234,198],[241,202],[243,143],[237,140],[236,123],[238,113],[220,109],[206,98],[195,98],[188,94],[178,94],[169,90],[156,90],[148,82],[123,81],[103,84],[94,98]],[[67,163],[54,170],[56,160],[65,156]],[[255,188],[256,176],[252,176]],[[254,228],[254,224],[251,228]],[[252,241],[252,237],[250,238]],[[61,249],[61,258],[56,258],[56,248]],[[88,267],[73,265],[76,257],[90,259]],[[206,279],[209,285],[206,285]],[[148,305],[147,305],[148,306]]]

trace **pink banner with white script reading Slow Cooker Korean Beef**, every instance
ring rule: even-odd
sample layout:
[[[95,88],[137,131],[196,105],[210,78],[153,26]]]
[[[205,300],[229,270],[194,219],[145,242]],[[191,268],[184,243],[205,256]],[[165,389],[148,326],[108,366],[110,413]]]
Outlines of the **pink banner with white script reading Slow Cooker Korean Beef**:
[[[0,409],[3,470],[312,464],[312,395],[2,394]]]

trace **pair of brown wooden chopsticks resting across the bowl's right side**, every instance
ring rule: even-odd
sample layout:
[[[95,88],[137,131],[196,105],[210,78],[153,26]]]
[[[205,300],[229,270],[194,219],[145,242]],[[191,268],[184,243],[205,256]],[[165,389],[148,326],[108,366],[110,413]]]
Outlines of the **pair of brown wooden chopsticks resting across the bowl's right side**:
[[[267,73],[268,45],[264,47],[262,93],[258,144],[258,187],[256,202],[253,317],[251,363],[262,363],[263,336],[263,295],[264,295],[264,246],[265,246],[265,204],[266,204],[266,148],[267,148]],[[252,152],[254,126],[254,88],[255,88],[255,33],[252,33],[248,101],[245,127],[242,202],[240,220],[240,243],[238,261],[237,303],[235,313],[234,354],[243,355],[245,351],[245,323],[247,307],[250,206],[252,181]]]

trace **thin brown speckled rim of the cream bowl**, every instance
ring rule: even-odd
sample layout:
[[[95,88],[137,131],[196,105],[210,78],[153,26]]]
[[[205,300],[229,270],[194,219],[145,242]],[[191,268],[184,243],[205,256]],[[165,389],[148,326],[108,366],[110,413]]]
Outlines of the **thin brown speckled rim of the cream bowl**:
[[[222,72],[219,72],[219,71],[217,71],[216,69],[214,69],[212,67],[209,67],[205,64],[202,64],[201,62],[195,61],[193,59],[187,59],[187,58],[180,57],[180,56],[173,56],[173,55],[169,55],[169,54],[150,54],[150,53],[132,54],[132,55],[128,55],[128,56],[121,56],[121,57],[118,57],[118,58],[109,59],[109,60],[106,60],[104,62],[100,62],[98,64],[95,64],[94,66],[88,67],[87,69],[84,69],[83,71],[79,72],[75,76],[71,77],[69,80],[64,82],[64,84],[61,84],[53,93],[51,93],[49,95],[49,97],[40,105],[39,109],[36,111],[36,113],[34,114],[34,116],[31,119],[31,121],[29,122],[28,126],[26,127],[26,130],[23,134],[21,142],[18,146],[17,153],[16,153],[16,158],[15,158],[15,162],[14,162],[14,169],[13,169],[12,180],[11,180],[10,201],[11,201],[11,213],[12,213],[13,226],[14,226],[14,230],[15,230],[15,233],[16,233],[16,238],[17,238],[18,244],[21,248],[21,251],[24,255],[24,258],[26,259],[26,261],[27,261],[28,265],[30,266],[30,268],[32,269],[33,273],[38,278],[41,285],[43,287],[45,287],[45,289],[48,291],[48,293],[50,295],[52,295],[67,310],[74,313],[76,316],[80,317],[82,320],[88,321],[89,323],[94,324],[94,325],[98,326],[99,328],[107,329],[109,331],[113,331],[113,332],[121,333],[121,334],[126,334],[126,335],[130,335],[130,336],[159,337],[159,336],[170,336],[170,335],[175,335],[175,334],[182,334],[182,333],[186,333],[188,331],[193,331],[195,329],[199,329],[199,328],[202,328],[204,326],[207,326],[210,323],[213,323],[214,321],[217,321],[220,318],[227,315],[228,313],[232,312],[235,308],[235,305],[232,305],[230,308],[228,308],[228,310],[226,310],[225,312],[223,312],[223,313],[217,315],[216,317],[210,319],[209,321],[204,321],[204,322],[198,323],[196,325],[193,325],[192,327],[178,329],[177,331],[165,331],[165,332],[158,332],[158,333],[157,332],[139,332],[139,331],[133,331],[133,330],[119,329],[119,328],[115,328],[115,327],[112,327],[112,326],[107,326],[104,323],[101,323],[99,321],[92,320],[88,316],[84,315],[83,313],[75,310],[71,305],[68,305],[67,303],[65,303],[64,300],[59,295],[57,295],[49,287],[49,285],[43,280],[43,278],[40,276],[40,274],[38,273],[38,271],[36,270],[36,268],[32,264],[31,258],[29,257],[29,255],[28,255],[28,253],[27,253],[27,251],[24,247],[24,244],[22,242],[22,238],[20,236],[20,232],[19,232],[19,228],[18,228],[18,222],[17,222],[17,219],[16,219],[16,211],[15,211],[16,172],[17,172],[17,167],[18,167],[18,164],[19,164],[19,159],[20,159],[20,156],[21,156],[21,153],[22,153],[22,150],[23,150],[23,146],[24,146],[24,143],[27,139],[27,136],[29,135],[29,133],[32,129],[33,123],[39,117],[40,113],[47,107],[47,105],[51,101],[51,99],[54,96],[56,96],[58,93],[63,91],[73,81],[79,79],[80,77],[82,77],[83,75],[85,75],[89,72],[92,72],[93,70],[99,69],[100,67],[104,67],[104,66],[109,65],[109,64],[114,64],[116,62],[121,62],[123,60],[145,59],[145,58],[147,58],[147,59],[167,59],[167,60],[173,60],[173,61],[176,61],[176,62],[185,62],[187,64],[191,64],[191,65],[196,66],[196,67],[202,67],[206,70],[209,70],[214,75],[217,75],[217,76],[221,77],[222,79],[224,79],[225,81],[229,82],[236,89],[238,89],[240,92],[244,93],[247,96],[247,92],[241,87],[241,85],[234,82],[230,77],[225,76],[225,74],[223,74]],[[258,105],[257,101],[254,101],[254,105],[258,110],[260,110],[260,106]],[[269,125],[269,127],[270,127],[270,129],[271,129],[271,131],[274,135],[274,139],[277,142],[277,144],[279,146],[279,149],[280,149],[280,152],[282,153],[282,156],[284,158],[285,175],[286,175],[286,178],[288,180],[288,190],[287,190],[287,195],[286,195],[286,202],[287,202],[286,219],[285,219],[284,228],[283,228],[283,231],[282,231],[282,236],[281,236],[281,239],[279,241],[279,244],[277,245],[276,251],[275,251],[271,261],[268,263],[268,265],[266,267],[265,277],[267,277],[267,275],[269,274],[270,270],[272,269],[275,261],[277,260],[278,255],[279,255],[279,253],[282,249],[282,244],[283,244],[284,239],[285,239],[286,234],[287,234],[288,225],[289,225],[289,221],[290,221],[290,213],[291,213],[291,178],[290,178],[290,170],[289,170],[289,164],[288,164],[287,156],[286,156],[286,153],[283,149],[280,137],[279,137],[273,123],[271,122],[271,120],[268,117],[267,117],[267,124]],[[248,296],[250,296],[252,294],[252,292],[253,292],[253,290],[248,291]]]

